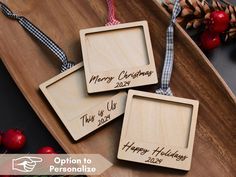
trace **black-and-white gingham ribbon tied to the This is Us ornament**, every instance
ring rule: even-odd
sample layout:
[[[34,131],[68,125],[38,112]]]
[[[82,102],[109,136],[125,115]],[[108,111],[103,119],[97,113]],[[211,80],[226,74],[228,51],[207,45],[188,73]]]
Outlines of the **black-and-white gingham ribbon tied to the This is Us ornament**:
[[[17,20],[23,28],[25,28],[28,32],[30,32],[36,39],[38,39],[41,43],[43,43],[60,59],[60,61],[62,62],[61,72],[74,66],[74,63],[68,61],[67,56],[63,52],[63,50],[55,42],[53,42],[46,34],[40,31],[36,26],[34,26],[28,19],[26,19],[23,16],[18,16],[17,14],[14,14],[2,2],[0,2],[0,10],[6,17],[13,20]]]

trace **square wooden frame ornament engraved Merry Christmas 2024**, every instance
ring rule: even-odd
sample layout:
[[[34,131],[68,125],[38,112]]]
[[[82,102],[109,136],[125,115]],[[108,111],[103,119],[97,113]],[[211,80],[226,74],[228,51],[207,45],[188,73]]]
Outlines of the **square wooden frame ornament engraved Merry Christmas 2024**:
[[[158,82],[146,21],[80,30],[89,93]]]

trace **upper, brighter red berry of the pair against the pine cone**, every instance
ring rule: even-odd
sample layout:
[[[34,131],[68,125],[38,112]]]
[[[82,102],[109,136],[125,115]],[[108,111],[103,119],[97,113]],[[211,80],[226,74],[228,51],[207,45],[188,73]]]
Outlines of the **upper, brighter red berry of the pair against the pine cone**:
[[[224,11],[214,11],[210,15],[209,30],[214,33],[222,33],[228,28],[229,21],[229,16]]]

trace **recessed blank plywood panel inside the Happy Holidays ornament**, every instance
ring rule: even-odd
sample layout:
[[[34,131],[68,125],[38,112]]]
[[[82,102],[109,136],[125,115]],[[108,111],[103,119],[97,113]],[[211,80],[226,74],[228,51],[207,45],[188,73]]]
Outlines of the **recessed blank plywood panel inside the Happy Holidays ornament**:
[[[127,138],[185,148],[188,146],[192,106],[134,96]]]

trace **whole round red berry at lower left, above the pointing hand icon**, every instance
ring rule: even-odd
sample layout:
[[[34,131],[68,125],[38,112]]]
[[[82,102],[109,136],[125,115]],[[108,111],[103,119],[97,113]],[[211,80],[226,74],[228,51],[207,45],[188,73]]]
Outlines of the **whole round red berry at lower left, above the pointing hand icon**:
[[[9,151],[20,150],[26,142],[26,137],[22,131],[9,129],[2,134],[2,144]]]

